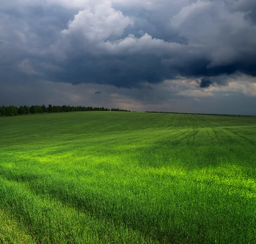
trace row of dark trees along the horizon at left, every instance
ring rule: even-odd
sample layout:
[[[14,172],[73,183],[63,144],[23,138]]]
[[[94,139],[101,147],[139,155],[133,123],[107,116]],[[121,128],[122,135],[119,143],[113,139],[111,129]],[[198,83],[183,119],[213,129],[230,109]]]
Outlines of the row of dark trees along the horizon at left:
[[[15,106],[2,106],[0,107],[0,116],[15,116],[15,115],[23,115],[23,114],[30,114],[30,113],[61,113],[61,112],[77,112],[77,111],[119,111],[119,112],[131,112],[130,110],[124,110],[119,108],[104,108],[104,107],[82,107],[82,106],[55,106],[49,104],[48,107],[45,105],[32,105],[29,106],[20,106],[19,108]]]

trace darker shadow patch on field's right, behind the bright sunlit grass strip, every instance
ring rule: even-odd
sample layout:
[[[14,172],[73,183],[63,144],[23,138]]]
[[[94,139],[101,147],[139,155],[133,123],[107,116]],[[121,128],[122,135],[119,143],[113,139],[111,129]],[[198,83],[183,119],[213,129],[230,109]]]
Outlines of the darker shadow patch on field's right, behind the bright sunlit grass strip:
[[[165,136],[134,150],[133,160],[141,167],[179,167],[184,170],[239,165],[253,168],[256,163],[255,139],[227,134],[224,130],[188,130]],[[215,134],[220,135],[215,136]],[[205,136],[205,135],[209,136]]]

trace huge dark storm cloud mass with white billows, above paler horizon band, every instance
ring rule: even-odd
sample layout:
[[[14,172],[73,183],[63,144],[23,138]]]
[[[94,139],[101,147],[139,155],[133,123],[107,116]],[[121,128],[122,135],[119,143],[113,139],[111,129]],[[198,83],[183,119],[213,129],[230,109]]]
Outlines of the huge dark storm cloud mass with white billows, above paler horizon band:
[[[0,82],[140,88],[183,76],[207,88],[256,76],[255,13],[254,0],[4,1]]]

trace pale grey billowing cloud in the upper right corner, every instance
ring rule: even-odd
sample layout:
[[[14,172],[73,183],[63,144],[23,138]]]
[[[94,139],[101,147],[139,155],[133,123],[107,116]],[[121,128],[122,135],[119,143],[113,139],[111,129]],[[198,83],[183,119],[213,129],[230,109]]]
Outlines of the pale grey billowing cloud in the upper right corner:
[[[170,26],[190,46],[199,45],[201,54],[211,60],[208,68],[228,65],[244,55],[256,54],[252,50],[256,26],[246,19],[249,11],[230,11],[221,0],[198,0],[173,16]]]

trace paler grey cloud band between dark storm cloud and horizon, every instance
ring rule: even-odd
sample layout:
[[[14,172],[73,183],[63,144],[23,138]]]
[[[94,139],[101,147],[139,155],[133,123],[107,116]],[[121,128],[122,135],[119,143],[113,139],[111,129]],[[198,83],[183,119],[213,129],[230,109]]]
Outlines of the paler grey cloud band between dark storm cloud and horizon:
[[[241,77],[246,79],[246,77]],[[235,81],[235,80],[234,80]],[[116,88],[110,85],[80,84],[71,85],[63,82],[36,81],[20,84],[9,82],[1,86],[0,104],[4,105],[35,105],[49,103],[55,105],[83,105],[105,108],[123,108],[132,111],[172,111],[193,113],[233,113],[256,114],[255,96],[245,96],[242,91],[250,82],[244,81],[236,86],[211,86],[209,90],[197,90],[198,84],[193,80],[179,78],[138,88]],[[14,89],[15,87],[15,89]],[[224,89],[224,90],[223,90]],[[95,91],[102,91],[95,96]],[[223,90],[223,91],[222,91]],[[234,93],[235,91],[235,93]],[[212,95],[214,94],[214,96]],[[224,94],[233,94],[225,96]],[[3,102],[4,101],[4,102]],[[235,106],[234,106],[235,105]]]

